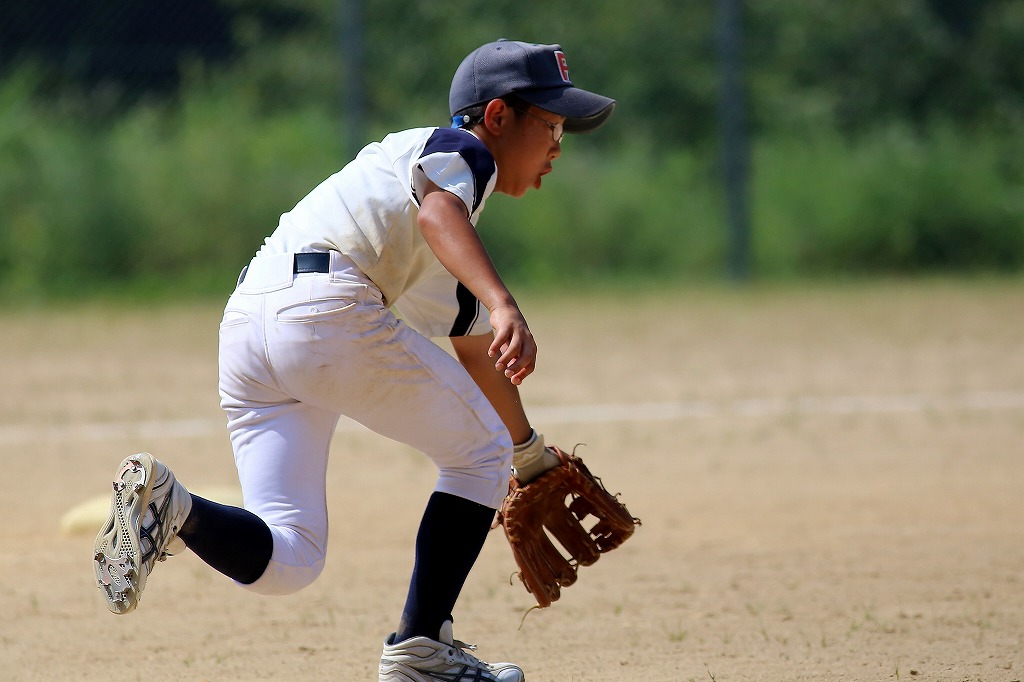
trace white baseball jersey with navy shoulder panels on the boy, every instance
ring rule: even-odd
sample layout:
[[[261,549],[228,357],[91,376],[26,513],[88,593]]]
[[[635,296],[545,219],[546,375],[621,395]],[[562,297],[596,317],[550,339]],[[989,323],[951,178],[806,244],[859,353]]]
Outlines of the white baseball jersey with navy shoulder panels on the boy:
[[[260,253],[340,251],[426,336],[490,331],[485,310],[453,278],[417,225],[426,181],[466,205],[474,225],[494,191],[494,158],[471,132],[417,128],[366,146],[294,209]],[[399,302],[400,301],[400,302]]]

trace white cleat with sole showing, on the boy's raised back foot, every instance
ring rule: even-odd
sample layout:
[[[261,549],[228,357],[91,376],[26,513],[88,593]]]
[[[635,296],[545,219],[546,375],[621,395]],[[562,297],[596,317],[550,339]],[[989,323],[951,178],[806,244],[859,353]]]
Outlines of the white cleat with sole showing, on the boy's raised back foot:
[[[157,561],[184,550],[178,529],[191,511],[191,496],[148,453],[126,457],[114,477],[111,515],[96,535],[96,586],[114,613],[138,606]]]

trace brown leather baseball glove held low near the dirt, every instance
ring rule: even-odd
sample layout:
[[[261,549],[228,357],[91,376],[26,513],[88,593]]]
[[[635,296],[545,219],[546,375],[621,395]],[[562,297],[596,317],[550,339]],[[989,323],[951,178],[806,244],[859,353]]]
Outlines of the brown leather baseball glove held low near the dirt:
[[[525,485],[512,477],[499,517],[519,579],[541,608],[556,601],[561,588],[575,583],[580,566],[622,545],[640,525],[583,460],[553,445],[548,449],[561,464]]]

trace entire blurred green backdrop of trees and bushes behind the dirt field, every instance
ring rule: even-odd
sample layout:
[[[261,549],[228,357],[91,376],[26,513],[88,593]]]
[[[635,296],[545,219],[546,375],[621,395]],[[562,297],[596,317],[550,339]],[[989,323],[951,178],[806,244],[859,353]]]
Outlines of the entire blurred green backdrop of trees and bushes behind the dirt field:
[[[715,0],[0,3],[0,291],[222,291],[353,135],[443,125],[456,67],[500,37],[558,41],[620,102],[555,191],[496,198],[503,271],[717,275],[715,20]],[[760,272],[1024,268],[1024,2],[751,0],[743,38]]]

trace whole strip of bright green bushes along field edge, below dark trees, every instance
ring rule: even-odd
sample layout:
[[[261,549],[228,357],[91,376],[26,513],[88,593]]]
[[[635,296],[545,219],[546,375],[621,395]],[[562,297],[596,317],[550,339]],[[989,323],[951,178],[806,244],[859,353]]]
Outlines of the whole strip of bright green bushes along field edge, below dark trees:
[[[0,292],[227,291],[289,210],[345,162],[318,110],[260,113],[241,86],[89,124],[0,84]],[[1024,267],[1024,142],[991,129],[765,133],[753,167],[762,278]],[[544,190],[490,200],[481,233],[512,280],[719,279],[717,161],[566,140]]]

